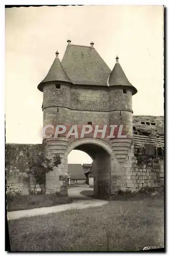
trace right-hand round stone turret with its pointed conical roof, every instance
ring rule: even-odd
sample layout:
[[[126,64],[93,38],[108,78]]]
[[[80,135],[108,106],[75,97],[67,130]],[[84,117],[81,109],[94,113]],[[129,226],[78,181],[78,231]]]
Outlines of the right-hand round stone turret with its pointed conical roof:
[[[120,63],[116,57],[115,67],[112,69],[109,78],[109,121],[110,124],[123,124],[124,135],[132,137],[132,95],[137,93],[135,87],[127,79]]]

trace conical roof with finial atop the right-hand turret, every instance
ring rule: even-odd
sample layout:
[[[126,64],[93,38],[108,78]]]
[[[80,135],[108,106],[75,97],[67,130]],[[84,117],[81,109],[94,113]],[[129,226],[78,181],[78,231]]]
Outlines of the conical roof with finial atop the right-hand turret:
[[[115,67],[112,69],[109,78],[108,78],[109,86],[126,86],[130,87],[132,90],[132,94],[136,94],[137,90],[127,79],[120,63],[119,63],[119,57],[116,57],[116,64]]]

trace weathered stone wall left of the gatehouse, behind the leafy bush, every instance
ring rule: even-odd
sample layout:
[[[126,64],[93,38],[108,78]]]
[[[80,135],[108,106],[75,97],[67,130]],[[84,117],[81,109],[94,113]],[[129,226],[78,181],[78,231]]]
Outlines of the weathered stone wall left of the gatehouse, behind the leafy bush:
[[[27,174],[30,160],[44,153],[44,144],[6,144],[7,193],[29,195],[34,190],[34,179]],[[39,185],[36,191],[40,191]]]

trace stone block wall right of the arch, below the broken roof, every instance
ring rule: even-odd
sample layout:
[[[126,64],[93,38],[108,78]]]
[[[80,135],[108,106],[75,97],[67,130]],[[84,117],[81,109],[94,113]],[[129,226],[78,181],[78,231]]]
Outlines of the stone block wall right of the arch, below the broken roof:
[[[134,156],[132,145],[124,167],[119,169],[117,176],[112,176],[112,184],[117,184],[116,188],[119,187],[119,189],[120,184],[124,184],[122,190],[130,190],[132,192],[146,187],[163,189],[164,159],[151,155],[142,156],[139,162],[137,159],[140,158]]]

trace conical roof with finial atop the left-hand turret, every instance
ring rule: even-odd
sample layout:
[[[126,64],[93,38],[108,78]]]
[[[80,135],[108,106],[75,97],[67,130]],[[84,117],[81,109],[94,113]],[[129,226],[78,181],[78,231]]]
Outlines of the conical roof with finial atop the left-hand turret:
[[[69,79],[66,72],[64,71],[64,68],[58,55],[59,53],[57,51],[56,57],[53,61],[51,68],[49,69],[49,72],[47,73],[46,77],[42,80],[42,82],[38,85],[38,89],[41,92],[43,92],[43,83],[45,82],[58,81],[72,83],[72,81]]]

